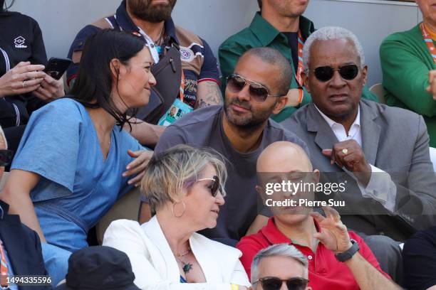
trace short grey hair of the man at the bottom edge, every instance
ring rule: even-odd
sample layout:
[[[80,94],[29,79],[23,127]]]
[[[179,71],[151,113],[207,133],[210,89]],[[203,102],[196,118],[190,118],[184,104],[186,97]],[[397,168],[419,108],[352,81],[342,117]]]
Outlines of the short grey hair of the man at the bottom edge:
[[[299,251],[295,246],[288,244],[276,244],[261,249],[256,256],[254,256],[253,262],[251,262],[251,284],[254,284],[259,280],[259,264],[262,259],[266,257],[287,257],[295,259],[300,262],[304,267],[303,278],[308,277],[308,262],[306,256]]]

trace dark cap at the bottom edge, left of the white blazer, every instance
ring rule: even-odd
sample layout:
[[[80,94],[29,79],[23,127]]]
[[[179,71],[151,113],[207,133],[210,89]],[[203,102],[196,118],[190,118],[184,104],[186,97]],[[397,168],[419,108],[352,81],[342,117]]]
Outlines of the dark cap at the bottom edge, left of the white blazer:
[[[56,290],[140,290],[129,257],[113,247],[86,247],[68,259],[66,283]]]

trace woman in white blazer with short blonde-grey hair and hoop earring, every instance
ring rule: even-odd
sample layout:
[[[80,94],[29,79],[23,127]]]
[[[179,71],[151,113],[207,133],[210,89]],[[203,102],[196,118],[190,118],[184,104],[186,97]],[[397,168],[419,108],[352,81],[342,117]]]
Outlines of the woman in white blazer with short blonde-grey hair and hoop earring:
[[[204,149],[177,145],[154,156],[141,181],[155,216],[139,225],[116,220],[103,245],[128,254],[140,289],[246,290],[238,249],[198,230],[217,225],[224,204],[226,168]]]

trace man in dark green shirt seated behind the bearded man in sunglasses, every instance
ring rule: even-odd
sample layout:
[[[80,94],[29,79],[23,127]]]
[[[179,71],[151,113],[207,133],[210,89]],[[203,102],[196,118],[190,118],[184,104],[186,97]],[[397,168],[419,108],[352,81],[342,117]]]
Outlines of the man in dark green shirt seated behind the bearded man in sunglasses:
[[[281,122],[291,116],[299,107],[311,102],[311,95],[299,81],[299,68],[303,70],[303,58],[299,50],[306,38],[315,31],[313,22],[301,16],[308,0],[258,0],[260,12],[254,15],[248,28],[230,36],[219,47],[219,63],[222,72],[222,85],[233,73],[239,57],[250,48],[268,46],[279,50],[291,64],[292,78],[288,92],[288,103],[272,119]],[[362,97],[378,102],[375,95],[364,88]]]

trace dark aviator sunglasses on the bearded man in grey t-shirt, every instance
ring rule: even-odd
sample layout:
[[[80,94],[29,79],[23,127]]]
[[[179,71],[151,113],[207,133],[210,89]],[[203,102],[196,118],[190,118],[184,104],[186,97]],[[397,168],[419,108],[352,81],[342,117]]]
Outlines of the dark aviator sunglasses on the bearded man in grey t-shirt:
[[[241,92],[242,89],[249,85],[249,93],[251,98],[255,102],[265,102],[268,96],[271,97],[281,97],[282,95],[271,95],[269,90],[264,85],[259,84],[258,82],[252,82],[251,80],[247,80],[245,77],[241,75],[233,74],[227,77],[227,87],[232,92]],[[286,94],[285,94],[286,95]]]

